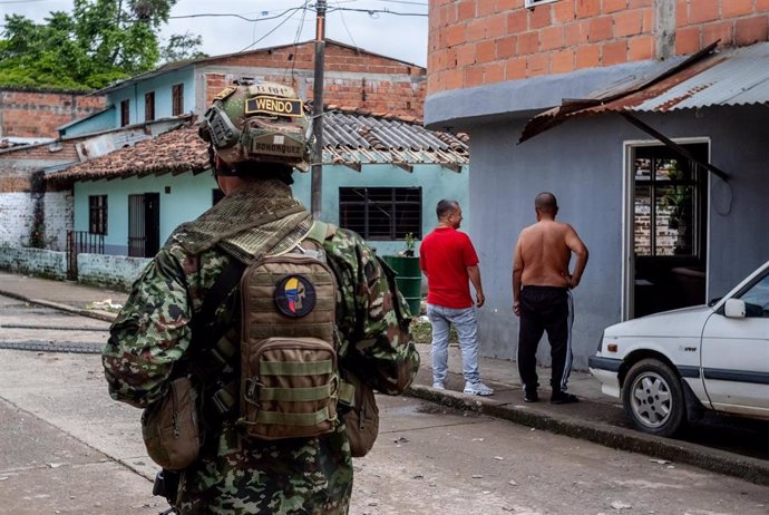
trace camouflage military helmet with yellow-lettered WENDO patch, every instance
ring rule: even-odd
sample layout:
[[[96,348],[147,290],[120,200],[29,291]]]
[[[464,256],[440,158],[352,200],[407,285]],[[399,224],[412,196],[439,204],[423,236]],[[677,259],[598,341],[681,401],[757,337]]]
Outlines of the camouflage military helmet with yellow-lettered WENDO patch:
[[[201,137],[235,168],[242,162],[280,163],[306,172],[314,138],[304,103],[275,82],[235,84],[214,97]]]

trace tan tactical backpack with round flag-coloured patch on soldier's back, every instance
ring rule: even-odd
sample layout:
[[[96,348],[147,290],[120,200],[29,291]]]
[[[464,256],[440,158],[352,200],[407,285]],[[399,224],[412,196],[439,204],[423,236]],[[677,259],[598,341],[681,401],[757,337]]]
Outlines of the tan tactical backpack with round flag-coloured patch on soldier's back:
[[[340,367],[338,354],[337,279],[322,250],[334,231],[314,222],[299,250],[249,266],[233,260],[208,291],[197,320],[212,318],[240,283],[241,342],[230,346],[223,328],[193,330],[192,347],[207,347],[213,358],[195,376],[216,376],[221,365],[212,363],[240,352],[241,379],[221,387],[203,381],[204,420],[236,414],[246,435],[274,440],[323,435],[343,419],[352,456],[371,449],[379,429],[373,389]]]

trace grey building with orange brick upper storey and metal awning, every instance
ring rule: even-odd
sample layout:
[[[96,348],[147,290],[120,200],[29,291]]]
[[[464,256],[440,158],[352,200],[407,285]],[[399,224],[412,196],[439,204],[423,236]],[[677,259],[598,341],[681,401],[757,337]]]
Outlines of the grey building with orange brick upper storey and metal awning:
[[[470,136],[483,353],[516,356],[513,247],[543,191],[591,251],[575,367],[605,327],[705,303],[767,260],[769,4],[467,0],[429,17],[426,126]]]

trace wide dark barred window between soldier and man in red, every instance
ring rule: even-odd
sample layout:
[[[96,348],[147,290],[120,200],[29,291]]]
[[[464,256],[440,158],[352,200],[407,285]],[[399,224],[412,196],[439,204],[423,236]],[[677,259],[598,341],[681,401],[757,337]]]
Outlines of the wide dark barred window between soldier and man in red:
[[[366,240],[403,240],[422,232],[421,187],[340,187],[339,224]]]

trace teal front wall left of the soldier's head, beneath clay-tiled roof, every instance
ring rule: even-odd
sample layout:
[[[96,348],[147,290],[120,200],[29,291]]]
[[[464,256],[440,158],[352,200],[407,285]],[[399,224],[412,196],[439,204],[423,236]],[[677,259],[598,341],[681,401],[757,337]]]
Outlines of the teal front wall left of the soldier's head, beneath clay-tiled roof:
[[[166,186],[171,193],[165,193]],[[128,177],[113,181],[89,181],[75,184],[75,231],[88,231],[88,197],[107,195],[108,254],[127,254],[128,249],[128,195],[159,193],[160,244],[183,222],[196,218],[213,205],[216,182],[208,173],[198,175],[162,175],[159,177]]]

